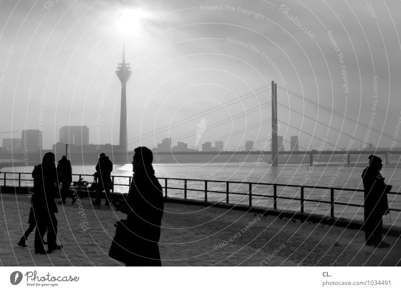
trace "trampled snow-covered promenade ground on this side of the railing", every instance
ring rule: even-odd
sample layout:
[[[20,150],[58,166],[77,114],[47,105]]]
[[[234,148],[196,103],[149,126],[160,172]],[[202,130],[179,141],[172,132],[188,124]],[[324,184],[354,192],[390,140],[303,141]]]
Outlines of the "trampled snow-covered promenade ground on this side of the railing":
[[[29,247],[17,245],[28,228],[30,198],[2,193],[0,202],[2,265],[121,265],[107,253],[114,223],[125,214],[103,205],[93,207],[89,198],[81,199],[81,209],[79,204],[58,205],[58,238],[64,247],[41,255],[33,248],[34,232]],[[364,245],[362,231],[353,229],[165,203],[159,247],[165,266],[400,265],[401,241],[393,236],[384,240],[391,247],[375,249]]]

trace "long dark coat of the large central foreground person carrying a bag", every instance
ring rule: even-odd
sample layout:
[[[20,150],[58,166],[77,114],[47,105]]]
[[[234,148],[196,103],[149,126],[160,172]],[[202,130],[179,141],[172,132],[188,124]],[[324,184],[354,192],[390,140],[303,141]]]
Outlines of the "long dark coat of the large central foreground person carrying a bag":
[[[134,233],[130,251],[147,258],[159,258],[157,243],[160,239],[164,207],[162,187],[154,176],[154,171],[134,174],[127,203],[132,208],[127,222]],[[134,256],[133,260],[136,258]]]

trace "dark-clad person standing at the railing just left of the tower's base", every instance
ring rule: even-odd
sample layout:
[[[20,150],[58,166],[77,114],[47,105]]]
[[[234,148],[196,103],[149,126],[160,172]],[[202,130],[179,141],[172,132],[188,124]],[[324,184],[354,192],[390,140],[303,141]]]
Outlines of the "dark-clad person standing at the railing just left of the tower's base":
[[[96,200],[93,201],[94,205],[100,205],[102,201],[102,191],[106,192],[106,203],[105,205],[110,205],[111,201],[111,193],[110,193],[110,185],[111,185],[111,172],[113,170],[113,163],[109,159],[109,157],[105,153],[101,153],[99,160],[96,165],[96,173],[95,177],[97,177],[97,186],[96,186]]]

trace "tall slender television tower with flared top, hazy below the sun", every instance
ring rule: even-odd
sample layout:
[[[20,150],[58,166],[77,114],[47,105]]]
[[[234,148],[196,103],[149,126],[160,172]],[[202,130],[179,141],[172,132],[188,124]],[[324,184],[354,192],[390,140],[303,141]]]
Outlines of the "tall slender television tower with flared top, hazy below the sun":
[[[127,97],[125,85],[131,76],[129,63],[125,62],[125,43],[122,48],[122,62],[117,64],[116,74],[121,82],[121,111],[120,111],[120,152],[127,152]]]

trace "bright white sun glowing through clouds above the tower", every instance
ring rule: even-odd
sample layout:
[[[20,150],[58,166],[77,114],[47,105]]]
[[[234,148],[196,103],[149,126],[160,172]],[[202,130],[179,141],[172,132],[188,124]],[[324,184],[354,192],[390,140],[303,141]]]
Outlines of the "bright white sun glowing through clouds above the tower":
[[[116,29],[119,33],[129,36],[140,33],[143,21],[149,18],[142,9],[125,8],[117,14]]]

